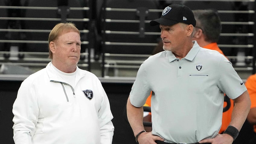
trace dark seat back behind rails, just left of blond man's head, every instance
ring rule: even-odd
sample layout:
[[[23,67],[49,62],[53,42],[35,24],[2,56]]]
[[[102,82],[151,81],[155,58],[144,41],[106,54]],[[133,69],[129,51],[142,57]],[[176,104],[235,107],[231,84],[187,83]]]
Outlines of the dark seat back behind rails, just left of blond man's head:
[[[26,29],[29,30],[48,30],[47,32],[27,32],[27,40],[37,40],[37,43],[27,43],[27,51],[29,52],[48,52],[48,36],[51,30],[59,20],[46,21],[46,18],[58,18],[57,1],[56,0],[31,0],[29,7],[55,7],[53,9],[27,9],[26,18],[42,18],[35,20],[27,20]]]

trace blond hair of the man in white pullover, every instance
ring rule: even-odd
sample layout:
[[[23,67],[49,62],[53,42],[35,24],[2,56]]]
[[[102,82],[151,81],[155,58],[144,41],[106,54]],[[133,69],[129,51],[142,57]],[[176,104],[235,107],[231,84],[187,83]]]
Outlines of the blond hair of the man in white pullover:
[[[79,30],[76,28],[75,24],[72,22],[67,22],[67,23],[59,23],[56,24],[55,27],[51,30],[49,34],[49,39],[48,39],[48,47],[49,47],[49,58],[53,59],[53,53],[50,50],[50,42],[57,40],[58,37],[64,33],[68,32],[77,32],[80,35]]]

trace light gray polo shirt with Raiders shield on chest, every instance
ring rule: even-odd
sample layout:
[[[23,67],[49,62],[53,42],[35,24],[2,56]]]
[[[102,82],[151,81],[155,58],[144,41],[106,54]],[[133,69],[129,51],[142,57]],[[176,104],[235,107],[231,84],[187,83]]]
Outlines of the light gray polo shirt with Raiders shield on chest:
[[[193,42],[182,59],[171,51],[150,56],[130,92],[131,103],[141,107],[153,91],[152,134],[165,142],[195,143],[215,137],[222,123],[223,93],[235,99],[246,91],[231,62]]]

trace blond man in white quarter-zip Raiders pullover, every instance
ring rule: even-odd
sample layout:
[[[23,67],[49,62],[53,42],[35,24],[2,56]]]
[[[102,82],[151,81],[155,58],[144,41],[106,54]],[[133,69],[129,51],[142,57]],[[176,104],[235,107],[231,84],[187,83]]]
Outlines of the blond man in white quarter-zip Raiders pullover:
[[[49,35],[46,68],[22,82],[13,104],[15,144],[111,144],[113,119],[99,79],[79,69],[81,41],[72,23]]]

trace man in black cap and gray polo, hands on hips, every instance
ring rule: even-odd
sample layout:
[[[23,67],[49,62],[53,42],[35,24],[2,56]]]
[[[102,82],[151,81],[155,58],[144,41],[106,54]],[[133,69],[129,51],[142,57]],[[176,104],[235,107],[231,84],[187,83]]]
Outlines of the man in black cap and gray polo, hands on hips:
[[[139,144],[232,144],[250,110],[245,85],[225,56],[192,41],[196,25],[185,5],[169,5],[150,22],[161,29],[165,51],[150,56],[137,73],[127,117]],[[143,127],[143,105],[152,91],[152,132]],[[223,93],[235,102],[223,134]]]

